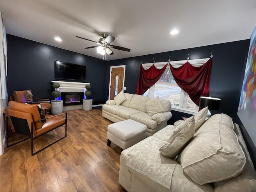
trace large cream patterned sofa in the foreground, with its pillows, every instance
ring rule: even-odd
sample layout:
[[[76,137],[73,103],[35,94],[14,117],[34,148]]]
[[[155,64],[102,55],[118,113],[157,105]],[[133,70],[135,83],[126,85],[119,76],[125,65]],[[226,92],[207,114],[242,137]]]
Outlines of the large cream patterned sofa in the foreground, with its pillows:
[[[168,125],[124,150],[119,183],[128,192],[255,192],[239,126],[225,114],[202,118]]]

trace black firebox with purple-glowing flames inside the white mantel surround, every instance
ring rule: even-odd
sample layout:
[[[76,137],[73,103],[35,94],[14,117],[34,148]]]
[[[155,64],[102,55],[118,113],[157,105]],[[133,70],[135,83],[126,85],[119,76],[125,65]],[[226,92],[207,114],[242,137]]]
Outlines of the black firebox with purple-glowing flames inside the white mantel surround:
[[[61,92],[63,106],[83,104],[84,92]]]

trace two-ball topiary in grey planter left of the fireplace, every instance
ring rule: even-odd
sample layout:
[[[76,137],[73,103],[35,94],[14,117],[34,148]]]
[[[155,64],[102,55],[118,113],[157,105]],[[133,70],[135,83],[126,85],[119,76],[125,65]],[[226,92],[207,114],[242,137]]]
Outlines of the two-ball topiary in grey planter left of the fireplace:
[[[57,88],[60,87],[59,83],[53,83],[52,84],[54,91],[52,91],[52,96],[55,98],[55,100],[51,101],[52,107],[51,107],[51,114],[57,115],[62,113],[63,110],[63,101],[57,100],[57,98],[61,95],[60,91],[57,90]]]

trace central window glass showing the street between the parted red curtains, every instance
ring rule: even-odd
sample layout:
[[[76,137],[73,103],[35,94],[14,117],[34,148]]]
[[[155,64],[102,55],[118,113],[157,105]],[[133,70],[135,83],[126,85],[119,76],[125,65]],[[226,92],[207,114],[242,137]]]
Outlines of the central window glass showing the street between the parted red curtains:
[[[181,88],[175,82],[170,67],[166,67],[164,73],[156,82],[154,98],[159,96],[159,98],[169,100],[172,106],[179,106],[180,93]]]

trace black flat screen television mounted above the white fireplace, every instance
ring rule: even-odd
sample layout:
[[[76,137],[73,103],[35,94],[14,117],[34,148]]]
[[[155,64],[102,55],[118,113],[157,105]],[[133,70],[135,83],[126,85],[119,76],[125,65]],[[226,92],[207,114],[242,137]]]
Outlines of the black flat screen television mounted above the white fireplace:
[[[85,81],[86,66],[56,61],[56,79]]]

